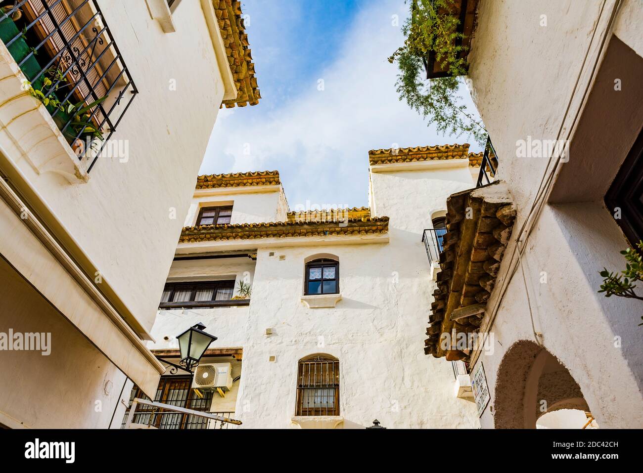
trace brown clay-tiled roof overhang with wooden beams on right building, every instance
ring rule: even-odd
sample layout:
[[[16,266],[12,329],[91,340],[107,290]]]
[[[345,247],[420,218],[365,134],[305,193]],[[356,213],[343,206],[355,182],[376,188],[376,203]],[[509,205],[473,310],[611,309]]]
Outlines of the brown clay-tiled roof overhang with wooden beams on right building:
[[[440,253],[426,355],[467,360],[472,347],[458,346],[478,331],[511,237],[516,208],[507,184],[498,181],[447,199],[444,251]]]

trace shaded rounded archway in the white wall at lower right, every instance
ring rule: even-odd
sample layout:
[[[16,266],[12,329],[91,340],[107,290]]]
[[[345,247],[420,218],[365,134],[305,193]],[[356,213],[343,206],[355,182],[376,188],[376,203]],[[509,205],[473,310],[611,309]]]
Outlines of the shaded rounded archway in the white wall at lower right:
[[[518,341],[507,350],[498,368],[495,391],[496,429],[535,429],[536,420],[545,413],[590,410],[567,368],[532,341]]]

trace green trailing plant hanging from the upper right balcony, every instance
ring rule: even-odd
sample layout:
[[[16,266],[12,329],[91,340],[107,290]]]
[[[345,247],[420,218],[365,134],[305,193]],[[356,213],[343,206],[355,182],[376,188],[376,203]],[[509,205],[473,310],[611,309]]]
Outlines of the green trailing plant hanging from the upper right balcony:
[[[484,145],[487,130],[471,114],[462,102],[458,89],[462,81],[459,76],[467,73],[466,59],[460,57],[463,46],[456,46],[462,39],[458,33],[459,19],[451,13],[454,0],[411,0],[411,15],[404,22],[402,31],[406,39],[388,61],[397,62],[400,74],[397,76],[397,92],[400,100],[408,103],[428,120],[435,123],[444,134],[472,134],[480,145]],[[448,69],[449,76],[424,79],[422,58],[435,54],[435,62]]]

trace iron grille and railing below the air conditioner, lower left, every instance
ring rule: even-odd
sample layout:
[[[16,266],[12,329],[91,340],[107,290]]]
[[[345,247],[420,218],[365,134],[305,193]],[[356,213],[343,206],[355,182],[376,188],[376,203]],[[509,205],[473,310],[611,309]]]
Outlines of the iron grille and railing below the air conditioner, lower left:
[[[212,406],[212,391],[203,391],[203,397],[199,397],[194,389],[190,387],[190,376],[161,376],[159,386],[156,389],[154,400],[156,402],[163,402],[170,406],[185,407],[186,409],[193,409],[194,411],[210,412],[215,415],[221,415],[231,418],[234,416],[233,412],[211,412]],[[129,409],[132,407],[132,400],[134,398],[149,399],[143,391],[136,386],[132,388],[129,398],[129,406],[125,411],[122,425],[125,425]],[[152,406],[145,406],[138,404],[136,413],[134,413],[134,420],[136,424],[146,424],[157,429],[227,429],[228,423],[219,420],[206,419],[203,417],[176,413],[159,409]]]

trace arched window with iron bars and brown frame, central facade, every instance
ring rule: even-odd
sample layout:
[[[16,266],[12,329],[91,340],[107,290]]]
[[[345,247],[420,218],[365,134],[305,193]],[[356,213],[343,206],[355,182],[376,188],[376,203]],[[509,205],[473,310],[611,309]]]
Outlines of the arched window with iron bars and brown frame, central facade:
[[[300,359],[296,416],[340,415],[340,361],[317,354]]]

